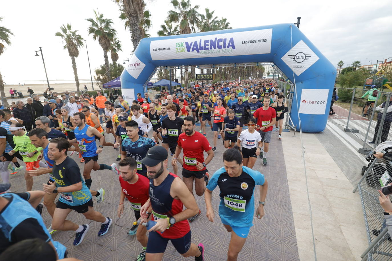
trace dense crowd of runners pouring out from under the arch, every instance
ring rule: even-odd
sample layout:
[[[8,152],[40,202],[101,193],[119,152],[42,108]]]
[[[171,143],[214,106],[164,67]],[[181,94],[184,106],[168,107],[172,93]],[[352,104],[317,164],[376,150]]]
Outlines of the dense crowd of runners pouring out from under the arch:
[[[254,215],[258,219],[264,215],[268,183],[253,168],[257,157],[268,164],[274,126],[279,132],[277,142],[281,139],[285,97],[273,79],[196,83],[171,93],[163,90],[157,96],[137,94],[131,102],[120,95],[118,106],[106,101],[103,110],[94,109],[85,99],[78,112],[70,113],[67,106],[55,111],[58,127],[51,128],[51,119],[40,116],[29,132],[9,112],[0,110],[0,260],[16,260],[11,257],[16,252],[31,255],[17,251],[26,241],[41,244],[40,249],[42,244],[50,245],[46,256],[54,249],[56,258],[67,257],[64,245],[53,241],[51,234],[74,231],[77,246],[89,231],[88,224],[67,220],[71,211],[100,223],[98,236],[104,236],[114,217],[94,211],[93,198],[100,204],[105,190],[91,188],[93,170],[107,170],[113,179],[118,178],[118,217],[124,213],[124,204],[134,212],[128,234],[136,234],[140,242],[136,261],[161,260],[169,240],[182,256],[204,260],[208,252],[202,243],[191,243],[190,222],[202,212],[214,222],[211,199],[216,187],[218,215],[231,233],[227,260],[237,260]],[[111,135],[114,143],[105,140]],[[207,137],[213,137],[213,144]],[[217,149],[224,151],[222,167],[209,172]],[[110,166],[98,163],[103,150],[113,154]],[[83,170],[75,159],[83,162]],[[13,175],[24,172],[27,192],[11,192],[9,166]],[[42,191],[32,191],[34,176],[39,175],[48,175],[47,183]],[[256,186],[260,186],[257,195]],[[204,195],[205,208],[200,209],[193,191]],[[44,207],[52,217],[50,227],[40,216]]]

